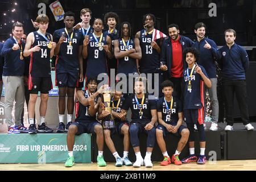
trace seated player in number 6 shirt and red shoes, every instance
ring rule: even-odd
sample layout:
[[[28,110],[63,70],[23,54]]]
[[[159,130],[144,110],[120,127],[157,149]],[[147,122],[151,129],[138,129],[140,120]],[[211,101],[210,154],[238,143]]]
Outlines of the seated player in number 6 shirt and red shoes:
[[[185,147],[185,144],[188,142],[189,130],[182,125],[183,112],[181,102],[178,98],[172,96],[172,92],[174,92],[174,84],[172,84],[171,81],[166,80],[161,84],[161,88],[164,97],[161,97],[158,100],[156,106],[158,110],[159,122],[156,129],[156,140],[164,156],[164,160],[160,163],[160,165],[167,166],[168,164],[171,164],[171,162],[175,165],[181,165],[179,155]],[[166,142],[163,138],[163,136],[165,136],[167,133],[173,133],[181,137],[172,158],[170,158],[168,155],[166,150]]]

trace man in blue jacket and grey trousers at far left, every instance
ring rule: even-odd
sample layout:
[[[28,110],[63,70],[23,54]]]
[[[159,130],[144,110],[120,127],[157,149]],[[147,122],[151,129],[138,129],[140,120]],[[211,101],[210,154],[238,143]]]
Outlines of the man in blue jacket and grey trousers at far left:
[[[20,133],[28,131],[21,123],[21,113],[24,106],[24,42],[23,24],[13,24],[13,36],[6,40],[1,55],[5,57],[3,64],[3,84],[5,85],[5,117],[8,126],[8,133]],[[13,122],[13,103],[15,103],[15,122]]]

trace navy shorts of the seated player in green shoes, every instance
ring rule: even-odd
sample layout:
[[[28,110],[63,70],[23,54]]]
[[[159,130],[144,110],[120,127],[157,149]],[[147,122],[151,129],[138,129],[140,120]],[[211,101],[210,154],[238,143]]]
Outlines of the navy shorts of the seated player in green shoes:
[[[92,122],[76,121],[76,122],[73,122],[71,125],[76,125],[77,126],[77,133],[76,133],[76,135],[81,135],[83,133],[96,134],[94,132],[94,127],[96,125],[101,125],[101,123],[99,123],[97,121],[92,121]]]

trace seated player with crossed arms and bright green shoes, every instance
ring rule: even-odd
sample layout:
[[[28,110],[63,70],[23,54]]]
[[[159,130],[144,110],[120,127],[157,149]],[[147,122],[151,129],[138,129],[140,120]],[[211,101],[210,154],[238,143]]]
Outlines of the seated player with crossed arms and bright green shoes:
[[[77,91],[77,98],[79,100],[79,112],[75,122],[69,126],[67,135],[67,145],[68,145],[68,160],[65,163],[65,167],[72,167],[75,164],[75,159],[73,157],[73,146],[75,143],[75,135],[80,135],[83,133],[92,133],[97,135],[97,146],[98,146],[98,156],[97,163],[98,166],[106,166],[106,162],[103,158],[104,149],[104,134],[101,123],[96,120],[96,113],[98,111],[98,94],[102,93],[104,86],[101,86],[97,92],[97,78],[90,78],[88,80],[87,90]],[[94,93],[95,92],[95,93]]]

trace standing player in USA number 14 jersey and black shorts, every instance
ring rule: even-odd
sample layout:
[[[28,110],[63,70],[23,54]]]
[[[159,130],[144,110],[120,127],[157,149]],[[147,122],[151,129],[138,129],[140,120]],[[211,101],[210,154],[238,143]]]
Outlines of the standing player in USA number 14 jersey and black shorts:
[[[48,93],[52,88],[51,63],[50,59],[54,54],[56,43],[52,42],[52,35],[47,33],[49,18],[41,14],[36,18],[39,23],[39,30],[31,32],[27,36],[24,56],[30,56],[30,75],[28,78],[28,89],[30,90],[30,101],[28,103],[28,119],[30,127],[28,133],[37,132],[34,124],[35,104],[40,92],[40,125],[39,132],[52,132],[53,130],[46,126],[45,117],[48,102]]]

